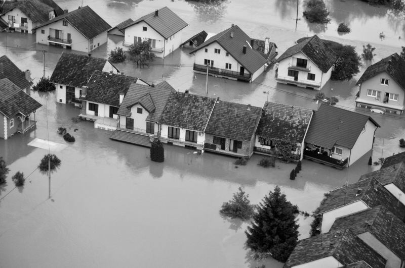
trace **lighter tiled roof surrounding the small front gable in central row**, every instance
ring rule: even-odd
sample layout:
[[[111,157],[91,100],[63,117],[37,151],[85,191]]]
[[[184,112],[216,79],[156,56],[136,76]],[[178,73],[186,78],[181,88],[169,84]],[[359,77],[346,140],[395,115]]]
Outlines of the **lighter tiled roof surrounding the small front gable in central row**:
[[[121,103],[119,106],[117,114],[120,116],[130,117],[132,104],[137,103],[140,98],[149,94],[151,100],[153,101],[154,110],[153,112],[149,112],[149,116],[146,118],[146,120],[160,123],[161,114],[166,106],[171,92],[175,92],[175,90],[166,81],[161,82],[154,87],[133,83],[128,89],[123,103]]]

